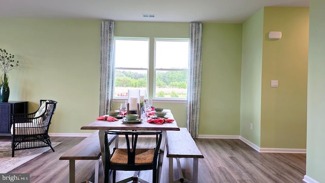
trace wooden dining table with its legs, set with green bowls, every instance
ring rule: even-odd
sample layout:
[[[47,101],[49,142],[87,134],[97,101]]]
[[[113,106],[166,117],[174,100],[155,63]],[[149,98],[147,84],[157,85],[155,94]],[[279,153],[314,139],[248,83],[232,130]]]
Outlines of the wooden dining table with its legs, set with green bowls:
[[[166,118],[174,119],[174,116],[169,109],[164,109],[166,111]],[[148,123],[147,120],[150,117],[146,117],[144,114],[141,115],[141,123],[124,123],[124,120],[116,121],[106,121],[106,120],[95,120],[90,124],[81,127],[81,130],[99,130],[99,141],[101,145],[101,153],[105,155],[104,148],[104,134],[107,130],[161,130],[163,131],[163,138],[160,144],[160,151],[158,157],[158,167],[157,167],[157,180],[160,181],[161,169],[163,166],[164,152],[166,146],[166,131],[179,131],[180,128],[177,126],[177,122],[174,119],[171,123]],[[118,138],[115,140],[115,147],[118,147]],[[105,156],[102,156],[103,168],[105,168]],[[105,176],[105,175],[104,175]]]

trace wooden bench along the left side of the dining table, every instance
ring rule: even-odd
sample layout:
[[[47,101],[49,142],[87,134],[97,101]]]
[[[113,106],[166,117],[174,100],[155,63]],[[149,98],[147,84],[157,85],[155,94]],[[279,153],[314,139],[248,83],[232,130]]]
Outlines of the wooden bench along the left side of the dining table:
[[[59,160],[69,160],[69,182],[75,182],[75,162],[76,160],[96,160],[94,182],[98,183],[99,162],[101,157],[101,146],[99,141],[99,130],[83,139],[73,148],[64,153]],[[117,135],[109,136],[109,143],[112,143]]]

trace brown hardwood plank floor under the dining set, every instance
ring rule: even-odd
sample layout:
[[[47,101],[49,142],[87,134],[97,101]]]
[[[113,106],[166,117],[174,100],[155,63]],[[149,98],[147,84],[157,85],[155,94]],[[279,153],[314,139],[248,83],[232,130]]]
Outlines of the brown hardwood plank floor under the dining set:
[[[61,142],[55,152],[51,150],[25,163],[9,173],[30,173],[30,182],[69,182],[69,161],[59,157],[84,137],[51,137]],[[1,137],[0,141],[10,141]],[[258,153],[239,139],[195,139],[204,159],[199,159],[199,182],[303,182],[306,172],[305,154]],[[145,141],[144,143],[151,143]],[[120,142],[123,145],[123,142]],[[174,161],[176,162],[176,161]],[[192,160],[181,159],[184,177],[191,176]],[[174,164],[174,179],[178,176]],[[76,161],[76,182],[93,181],[94,161]],[[132,175],[117,172],[117,178]],[[100,182],[103,182],[102,167]],[[150,181],[151,172],[140,172],[140,177]],[[168,182],[168,159],[164,159],[160,182]]]

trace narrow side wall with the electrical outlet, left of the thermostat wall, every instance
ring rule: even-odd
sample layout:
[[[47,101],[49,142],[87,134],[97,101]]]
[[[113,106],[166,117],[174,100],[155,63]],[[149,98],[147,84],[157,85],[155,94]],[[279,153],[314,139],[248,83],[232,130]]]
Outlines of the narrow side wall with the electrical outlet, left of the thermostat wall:
[[[257,146],[261,144],[263,15],[260,9],[243,23],[240,135]]]

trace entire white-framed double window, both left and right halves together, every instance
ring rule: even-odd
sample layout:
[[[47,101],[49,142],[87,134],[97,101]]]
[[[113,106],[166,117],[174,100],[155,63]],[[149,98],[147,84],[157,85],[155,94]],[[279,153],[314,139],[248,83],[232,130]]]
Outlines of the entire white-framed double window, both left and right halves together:
[[[147,98],[186,100],[189,40],[149,42],[149,38],[114,38],[114,98],[126,98],[128,89],[145,89]]]

